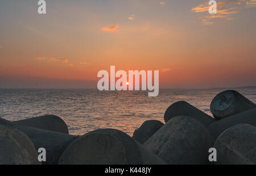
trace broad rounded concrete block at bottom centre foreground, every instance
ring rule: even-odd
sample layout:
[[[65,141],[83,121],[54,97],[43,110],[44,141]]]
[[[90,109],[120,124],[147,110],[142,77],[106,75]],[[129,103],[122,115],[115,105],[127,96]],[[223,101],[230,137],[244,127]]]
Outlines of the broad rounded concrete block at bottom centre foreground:
[[[69,145],[59,164],[165,163],[126,133],[117,129],[97,129]]]

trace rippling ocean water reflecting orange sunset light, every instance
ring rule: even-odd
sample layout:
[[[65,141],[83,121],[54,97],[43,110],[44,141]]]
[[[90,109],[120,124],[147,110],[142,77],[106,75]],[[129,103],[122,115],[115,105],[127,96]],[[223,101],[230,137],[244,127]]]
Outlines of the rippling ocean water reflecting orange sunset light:
[[[115,128],[132,136],[146,120],[164,122],[172,103],[185,100],[210,113],[210,102],[225,89],[159,90],[158,97],[147,91],[98,90],[0,90],[0,117],[20,120],[46,114],[64,119],[72,135],[84,135],[98,128]],[[256,103],[256,89],[236,89]]]

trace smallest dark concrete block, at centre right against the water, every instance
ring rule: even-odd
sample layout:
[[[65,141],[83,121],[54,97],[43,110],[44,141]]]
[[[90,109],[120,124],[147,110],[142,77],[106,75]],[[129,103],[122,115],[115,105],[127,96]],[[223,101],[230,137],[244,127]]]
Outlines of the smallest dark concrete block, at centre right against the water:
[[[146,140],[148,140],[159,128],[161,128],[164,124],[159,120],[147,120],[139,127],[135,129],[133,133],[133,139],[143,144]]]

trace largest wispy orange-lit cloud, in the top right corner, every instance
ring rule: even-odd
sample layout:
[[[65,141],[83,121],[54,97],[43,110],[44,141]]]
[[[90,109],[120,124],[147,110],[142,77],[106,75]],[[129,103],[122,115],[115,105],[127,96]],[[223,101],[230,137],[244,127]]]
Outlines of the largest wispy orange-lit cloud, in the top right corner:
[[[217,2],[217,14],[209,14],[208,10],[211,5],[208,1],[201,3],[197,7],[193,7],[193,12],[204,12],[200,16],[201,22],[205,25],[213,24],[213,19],[223,18],[232,20],[232,15],[237,14],[244,8],[256,7],[256,0],[223,0]]]

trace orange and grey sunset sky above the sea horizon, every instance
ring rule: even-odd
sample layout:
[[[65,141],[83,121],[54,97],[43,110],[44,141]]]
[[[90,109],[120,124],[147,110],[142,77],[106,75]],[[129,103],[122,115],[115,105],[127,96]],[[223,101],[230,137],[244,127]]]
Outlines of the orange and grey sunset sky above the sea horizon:
[[[256,0],[0,1],[0,88],[95,88],[159,70],[159,88],[256,86]]]

